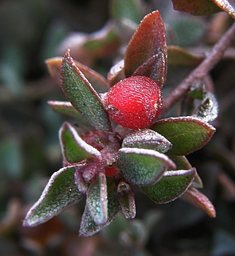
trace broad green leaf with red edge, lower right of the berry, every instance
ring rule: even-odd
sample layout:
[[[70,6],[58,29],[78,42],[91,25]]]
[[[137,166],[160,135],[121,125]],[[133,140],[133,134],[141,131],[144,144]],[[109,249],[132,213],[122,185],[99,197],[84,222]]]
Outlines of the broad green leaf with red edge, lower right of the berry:
[[[215,128],[198,118],[165,118],[151,126],[173,144],[167,154],[185,155],[199,150],[212,138]]]

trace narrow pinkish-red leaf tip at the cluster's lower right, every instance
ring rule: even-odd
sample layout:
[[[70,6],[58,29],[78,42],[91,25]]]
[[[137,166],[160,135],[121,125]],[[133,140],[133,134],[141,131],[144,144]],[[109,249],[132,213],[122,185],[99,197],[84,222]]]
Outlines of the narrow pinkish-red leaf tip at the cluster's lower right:
[[[201,210],[204,210],[206,214],[211,218],[216,217],[216,211],[213,204],[205,196],[201,194],[196,188],[191,187],[182,197],[187,202],[192,203],[194,206],[197,206]]]

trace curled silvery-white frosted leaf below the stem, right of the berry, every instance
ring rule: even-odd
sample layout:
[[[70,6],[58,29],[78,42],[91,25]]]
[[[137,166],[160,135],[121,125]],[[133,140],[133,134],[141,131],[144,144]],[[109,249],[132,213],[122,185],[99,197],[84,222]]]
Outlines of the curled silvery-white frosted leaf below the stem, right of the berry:
[[[200,118],[204,122],[211,122],[217,118],[219,112],[219,106],[217,98],[210,93],[206,92],[201,105],[197,108],[193,117]]]

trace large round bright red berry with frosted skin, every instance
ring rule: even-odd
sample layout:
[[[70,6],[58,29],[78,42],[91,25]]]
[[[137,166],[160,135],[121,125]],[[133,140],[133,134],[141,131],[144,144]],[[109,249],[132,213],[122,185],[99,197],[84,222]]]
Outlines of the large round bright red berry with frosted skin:
[[[161,113],[161,86],[145,76],[125,78],[110,88],[104,104],[114,122],[143,129]]]

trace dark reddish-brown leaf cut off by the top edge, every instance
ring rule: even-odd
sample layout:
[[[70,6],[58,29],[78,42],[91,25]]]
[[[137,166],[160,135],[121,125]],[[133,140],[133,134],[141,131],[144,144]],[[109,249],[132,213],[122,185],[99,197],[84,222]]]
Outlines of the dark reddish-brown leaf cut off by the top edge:
[[[220,11],[211,0],[171,0],[173,9],[193,15],[209,15]]]

